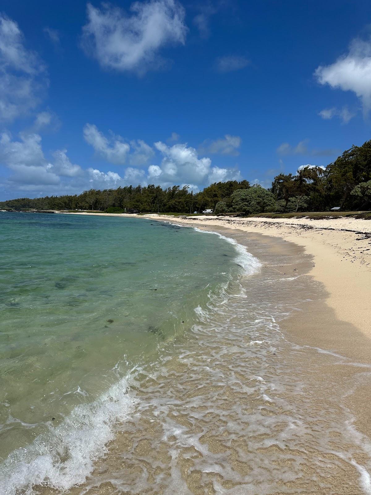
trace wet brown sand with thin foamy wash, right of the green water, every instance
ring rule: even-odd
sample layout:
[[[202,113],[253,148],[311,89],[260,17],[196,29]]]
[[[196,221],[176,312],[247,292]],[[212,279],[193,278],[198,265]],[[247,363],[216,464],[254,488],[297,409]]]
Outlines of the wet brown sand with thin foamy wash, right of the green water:
[[[209,220],[194,224],[211,230]],[[133,418],[117,426],[87,484],[70,493],[371,493],[370,339],[362,312],[339,319],[331,275],[320,275],[329,260],[305,237],[319,243],[322,232],[212,225],[262,261],[261,275],[245,283],[246,304],[253,291],[258,306],[244,313],[232,298],[207,325],[164,344],[162,365],[133,382]],[[288,240],[295,235],[301,242]],[[357,261],[351,273],[360,269],[367,281]],[[264,305],[276,321],[262,314],[252,326]]]

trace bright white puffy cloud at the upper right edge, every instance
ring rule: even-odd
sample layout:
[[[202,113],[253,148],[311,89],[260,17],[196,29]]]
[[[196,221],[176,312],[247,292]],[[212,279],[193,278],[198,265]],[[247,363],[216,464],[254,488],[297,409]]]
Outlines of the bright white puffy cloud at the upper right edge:
[[[314,75],[320,84],[355,93],[368,112],[371,108],[371,41],[353,40],[348,53],[330,65],[320,65]]]

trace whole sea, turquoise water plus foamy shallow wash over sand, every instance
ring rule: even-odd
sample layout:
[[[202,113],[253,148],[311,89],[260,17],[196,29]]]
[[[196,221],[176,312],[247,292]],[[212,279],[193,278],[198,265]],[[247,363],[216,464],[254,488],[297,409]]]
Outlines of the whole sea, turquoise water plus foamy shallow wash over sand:
[[[371,493],[370,367],[281,329],[310,256],[232,237],[0,213],[1,494]]]

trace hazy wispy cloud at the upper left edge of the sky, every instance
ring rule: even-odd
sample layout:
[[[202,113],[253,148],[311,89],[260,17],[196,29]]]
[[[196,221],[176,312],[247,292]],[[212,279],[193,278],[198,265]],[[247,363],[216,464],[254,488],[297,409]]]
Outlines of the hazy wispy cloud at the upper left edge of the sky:
[[[36,108],[47,84],[45,65],[25,48],[18,24],[0,15],[0,120],[13,120]]]

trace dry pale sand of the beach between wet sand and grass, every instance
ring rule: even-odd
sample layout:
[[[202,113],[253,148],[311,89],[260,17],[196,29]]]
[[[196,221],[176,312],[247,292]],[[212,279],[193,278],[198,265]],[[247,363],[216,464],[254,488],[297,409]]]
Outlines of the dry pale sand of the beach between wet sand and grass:
[[[112,213],[67,214],[134,216]],[[304,247],[305,252],[314,257],[309,275],[324,285],[327,293],[325,302],[334,310],[336,318],[353,325],[367,339],[371,339],[371,222],[344,217],[324,220],[262,220],[208,216],[174,217],[156,213],[135,216],[192,226],[223,228],[231,234],[235,231],[260,234]],[[326,345],[331,346],[332,339],[325,340]]]

